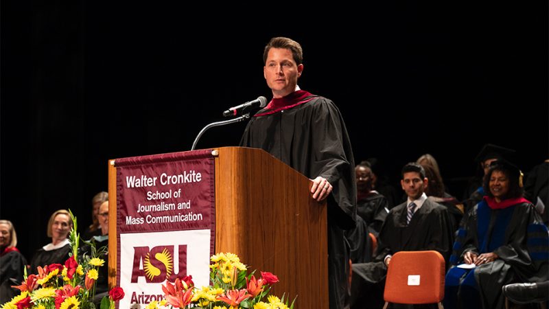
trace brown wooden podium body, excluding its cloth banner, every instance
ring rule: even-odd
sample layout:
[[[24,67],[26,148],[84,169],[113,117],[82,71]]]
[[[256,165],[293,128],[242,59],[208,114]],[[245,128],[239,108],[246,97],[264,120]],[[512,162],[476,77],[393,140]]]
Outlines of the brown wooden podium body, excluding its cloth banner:
[[[272,295],[285,294],[290,301],[297,296],[296,308],[328,308],[327,206],[312,199],[312,181],[261,149],[223,147],[212,153],[215,253],[236,253],[250,270],[277,275]],[[109,208],[117,209],[111,162]],[[110,211],[109,230],[115,233],[116,220],[116,211]],[[110,286],[117,276],[115,233],[109,238]]]

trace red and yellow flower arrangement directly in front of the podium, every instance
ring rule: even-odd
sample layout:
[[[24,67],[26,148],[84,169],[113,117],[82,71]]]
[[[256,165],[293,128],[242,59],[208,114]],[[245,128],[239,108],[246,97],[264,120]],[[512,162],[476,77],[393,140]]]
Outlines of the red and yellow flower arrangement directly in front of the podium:
[[[196,288],[192,277],[176,279],[174,284],[165,282],[162,301],[152,301],[147,309],[161,308],[208,308],[208,309],[293,309],[292,304],[274,295],[268,295],[272,284],[279,282],[276,275],[255,271],[248,274],[246,265],[233,253],[212,255],[210,264],[211,286]]]

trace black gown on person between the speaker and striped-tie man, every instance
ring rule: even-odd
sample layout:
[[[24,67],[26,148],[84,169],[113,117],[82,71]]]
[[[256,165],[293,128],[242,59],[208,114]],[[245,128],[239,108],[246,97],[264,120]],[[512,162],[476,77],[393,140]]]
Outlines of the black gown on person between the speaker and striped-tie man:
[[[385,196],[371,194],[357,202],[356,214],[366,222],[369,231],[377,236],[387,218],[388,206]]]

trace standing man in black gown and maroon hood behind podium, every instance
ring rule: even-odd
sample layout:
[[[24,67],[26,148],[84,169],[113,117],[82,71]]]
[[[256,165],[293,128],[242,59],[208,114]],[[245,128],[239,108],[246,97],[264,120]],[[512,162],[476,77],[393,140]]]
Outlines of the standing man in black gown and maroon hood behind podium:
[[[303,50],[272,38],[264,50],[272,100],[248,122],[240,146],[261,148],[313,179],[312,197],[327,198],[329,308],[348,306],[349,253],[344,229],[355,225],[356,187],[351,142],[334,102],[299,89]]]

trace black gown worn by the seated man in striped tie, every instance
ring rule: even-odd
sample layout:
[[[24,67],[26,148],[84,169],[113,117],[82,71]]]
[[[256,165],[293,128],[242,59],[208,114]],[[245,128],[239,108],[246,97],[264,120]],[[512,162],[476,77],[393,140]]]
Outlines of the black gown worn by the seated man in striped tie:
[[[399,251],[439,251],[448,260],[452,228],[446,207],[425,200],[406,225],[408,208],[402,203],[390,209],[379,232],[373,262],[353,264],[352,308],[381,308],[387,267],[384,259]]]

